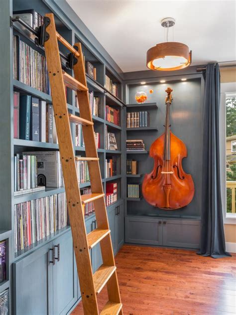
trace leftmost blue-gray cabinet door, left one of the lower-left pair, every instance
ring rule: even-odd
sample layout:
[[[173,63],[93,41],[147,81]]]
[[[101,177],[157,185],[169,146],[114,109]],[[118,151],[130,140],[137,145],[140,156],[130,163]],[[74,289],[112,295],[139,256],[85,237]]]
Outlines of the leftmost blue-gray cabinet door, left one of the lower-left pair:
[[[13,314],[53,314],[52,243],[13,263]]]

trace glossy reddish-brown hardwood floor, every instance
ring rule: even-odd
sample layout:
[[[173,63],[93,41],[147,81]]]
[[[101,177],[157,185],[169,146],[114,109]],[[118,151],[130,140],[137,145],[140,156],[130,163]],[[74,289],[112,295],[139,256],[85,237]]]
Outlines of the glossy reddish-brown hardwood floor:
[[[236,314],[236,254],[124,245],[116,256],[124,315]],[[106,289],[98,296],[102,307]],[[81,303],[72,315],[82,315]]]

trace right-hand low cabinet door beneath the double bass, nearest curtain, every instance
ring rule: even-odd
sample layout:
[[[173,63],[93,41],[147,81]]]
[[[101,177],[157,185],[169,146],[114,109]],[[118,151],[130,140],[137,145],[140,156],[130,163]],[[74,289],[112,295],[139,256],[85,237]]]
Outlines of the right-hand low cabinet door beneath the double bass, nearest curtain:
[[[163,245],[199,248],[200,221],[163,219]]]

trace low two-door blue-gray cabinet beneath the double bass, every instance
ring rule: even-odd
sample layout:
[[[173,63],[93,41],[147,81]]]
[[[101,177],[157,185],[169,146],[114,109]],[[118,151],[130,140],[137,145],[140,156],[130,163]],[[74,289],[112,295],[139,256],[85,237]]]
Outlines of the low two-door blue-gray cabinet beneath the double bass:
[[[200,220],[126,216],[125,242],[199,248]]]

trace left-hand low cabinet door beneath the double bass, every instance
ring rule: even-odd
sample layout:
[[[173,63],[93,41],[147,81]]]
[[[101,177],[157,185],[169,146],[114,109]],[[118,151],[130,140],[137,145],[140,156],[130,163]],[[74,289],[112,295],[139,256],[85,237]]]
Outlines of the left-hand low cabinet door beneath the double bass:
[[[156,218],[125,218],[125,242],[162,245],[162,220]]]

